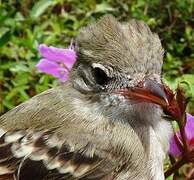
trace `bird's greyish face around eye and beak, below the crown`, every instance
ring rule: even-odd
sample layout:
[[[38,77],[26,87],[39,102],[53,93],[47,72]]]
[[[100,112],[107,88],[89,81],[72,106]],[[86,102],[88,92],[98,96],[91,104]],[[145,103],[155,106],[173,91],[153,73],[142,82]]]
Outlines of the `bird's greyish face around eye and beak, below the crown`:
[[[158,106],[147,103],[149,101],[146,99],[144,101],[125,96],[125,92],[136,88],[150,90],[153,98],[165,100],[165,94],[160,87],[160,76],[157,74],[127,74],[117,66],[102,63],[80,64],[76,73],[73,85],[83,95],[83,101],[91,106],[91,111],[95,107],[99,113],[111,119],[127,120],[129,115],[130,118],[139,116],[139,119],[143,119],[146,112],[149,114],[149,111],[158,109]]]

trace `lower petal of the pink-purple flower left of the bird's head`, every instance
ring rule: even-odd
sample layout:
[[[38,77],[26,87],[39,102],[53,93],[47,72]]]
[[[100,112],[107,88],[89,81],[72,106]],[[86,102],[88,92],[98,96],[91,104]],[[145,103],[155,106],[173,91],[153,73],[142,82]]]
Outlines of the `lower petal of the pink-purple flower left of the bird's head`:
[[[57,63],[48,61],[47,59],[41,59],[40,62],[36,65],[38,70],[41,72],[44,72],[46,74],[50,74],[54,77],[57,77],[59,79],[66,79],[68,78],[68,72],[61,68]],[[63,74],[61,73],[63,71]]]

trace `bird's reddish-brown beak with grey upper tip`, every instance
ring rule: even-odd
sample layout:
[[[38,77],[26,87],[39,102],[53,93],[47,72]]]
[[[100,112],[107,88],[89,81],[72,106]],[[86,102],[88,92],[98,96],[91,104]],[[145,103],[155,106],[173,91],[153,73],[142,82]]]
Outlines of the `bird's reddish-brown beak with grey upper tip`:
[[[119,91],[126,98],[140,102],[154,103],[167,107],[169,104],[168,95],[165,92],[165,85],[151,79],[145,79],[136,87],[130,87]]]

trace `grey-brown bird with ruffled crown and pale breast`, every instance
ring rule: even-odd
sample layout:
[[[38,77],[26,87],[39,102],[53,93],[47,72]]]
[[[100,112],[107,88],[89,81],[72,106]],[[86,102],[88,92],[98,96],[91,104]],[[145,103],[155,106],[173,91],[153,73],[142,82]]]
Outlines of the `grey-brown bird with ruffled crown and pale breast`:
[[[120,93],[150,82],[164,98],[158,35],[105,15],[75,42],[69,80],[0,117],[0,179],[164,180],[170,122],[159,105]]]

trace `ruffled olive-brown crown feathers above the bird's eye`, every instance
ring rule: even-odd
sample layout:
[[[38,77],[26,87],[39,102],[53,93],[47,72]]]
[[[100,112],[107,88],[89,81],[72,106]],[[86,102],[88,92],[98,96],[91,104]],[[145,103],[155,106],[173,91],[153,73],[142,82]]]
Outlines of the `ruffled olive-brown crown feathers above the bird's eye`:
[[[129,74],[161,72],[161,42],[142,21],[120,23],[113,16],[104,16],[81,28],[77,44],[79,62],[114,65]]]

